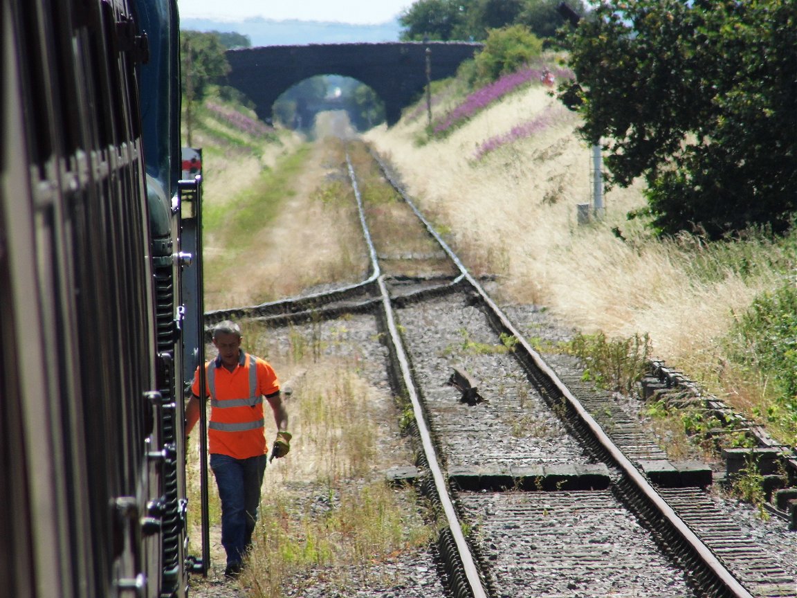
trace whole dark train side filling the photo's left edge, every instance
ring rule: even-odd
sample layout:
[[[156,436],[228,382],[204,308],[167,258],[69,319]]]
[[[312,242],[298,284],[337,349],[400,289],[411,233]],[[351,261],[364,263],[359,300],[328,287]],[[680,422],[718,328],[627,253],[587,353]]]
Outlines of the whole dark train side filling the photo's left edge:
[[[0,3],[9,596],[186,593],[176,24],[171,0]]]

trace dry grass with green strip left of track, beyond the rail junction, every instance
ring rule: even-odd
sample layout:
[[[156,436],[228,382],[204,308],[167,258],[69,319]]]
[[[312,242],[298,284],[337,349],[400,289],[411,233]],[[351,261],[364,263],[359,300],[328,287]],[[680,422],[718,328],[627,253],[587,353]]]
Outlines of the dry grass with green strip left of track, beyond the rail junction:
[[[237,195],[206,188],[211,209],[224,207],[222,225],[205,239],[206,309],[257,305],[363,277],[367,255],[351,242],[361,234],[340,148],[325,141],[305,151],[304,158],[282,159],[293,172],[279,182],[284,171],[259,171]]]

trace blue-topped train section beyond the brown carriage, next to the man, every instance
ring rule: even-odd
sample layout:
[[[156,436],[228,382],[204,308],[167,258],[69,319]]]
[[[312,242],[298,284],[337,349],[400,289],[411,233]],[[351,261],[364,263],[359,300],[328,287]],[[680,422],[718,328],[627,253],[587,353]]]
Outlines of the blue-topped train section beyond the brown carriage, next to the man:
[[[180,279],[194,256],[183,251],[179,138],[179,23],[174,0],[135,0],[139,29],[147,34],[149,60],[140,66],[143,148],[147,165],[156,342],[163,365],[163,496],[161,596],[182,596],[187,585],[185,435],[183,434],[183,297]],[[195,210],[191,210],[192,212]],[[196,267],[196,266],[194,266]],[[193,360],[193,352],[192,359]],[[193,363],[196,367],[196,363]]]

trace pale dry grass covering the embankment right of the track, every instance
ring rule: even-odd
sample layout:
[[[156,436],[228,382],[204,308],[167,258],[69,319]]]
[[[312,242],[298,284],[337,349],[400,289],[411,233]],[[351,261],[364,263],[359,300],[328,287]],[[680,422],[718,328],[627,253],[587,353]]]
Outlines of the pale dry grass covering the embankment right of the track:
[[[609,191],[603,221],[578,226],[576,204],[591,203],[591,148],[575,136],[577,116],[554,104],[532,86],[446,140],[419,146],[420,121],[378,128],[366,139],[401,171],[410,195],[449,233],[465,263],[500,277],[503,301],[543,305],[583,332],[648,333],[655,354],[723,394],[713,384],[723,363],[719,339],[732,313],[779,279],[728,270],[696,280],[693,248],[658,242],[626,220],[645,205],[639,185]],[[473,160],[482,141],[547,111],[558,112],[543,132]]]

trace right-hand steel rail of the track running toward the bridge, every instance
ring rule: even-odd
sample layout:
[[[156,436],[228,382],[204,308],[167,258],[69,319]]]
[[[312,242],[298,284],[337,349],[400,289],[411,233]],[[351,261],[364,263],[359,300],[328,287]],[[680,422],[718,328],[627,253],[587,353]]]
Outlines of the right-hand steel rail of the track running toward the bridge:
[[[496,305],[492,298],[486,293],[485,289],[481,287],[479,282],[473,278],[473,276],[465,269],[465,266],[462,262],[457,258],[457,255],[453,253],[453,250],[448,246],[448,244],[443,240],[443,238],[438,234],[437,230],[434,229],[434,226],[424,217],[424,215],[415,207],[414,203],[410,200],[410,198],[406,195],[406,192],[402,188],[402,186],[395,181],[393,175],[387,170],[383,161],[379,158],[378,155],[375,155],[374,152],[371,152],[374,159],[379,163],[379,167],[382,169],[385,178],[391,183],[393,187],[395,187],[396,191],[398,191],[399,195],[402,196],[402,199],[407,203],[411,210],[413,210],[414,214],[420,219],[424,226],[426,226],[426,230],[429,231],[429,234],[434,237],[434,239],[440,244],[446,254],[449,255],[451,260],[457,265],[457,268],[460,269],[460,272],[465,277],[467,281],[469,281],[470,285],[473,286],[473,289],[481,296],[482,300],[485,302],[485,305],[488,305],[489,309],[493,311],[495,316],[501,321],[501,325],[505,327],[505,329],[515,336],[518,340],[518,343],[523,348],[524,352],[532,359],[534,364],[537,368],[540,369],[541,372],[544,373],[545,376],[548,376],[548,379],[551,380],[552,384],[554,384],[557,390],[567,399],[567,402],[570,403],[571,407],[578,413],[579,417],[582,419],[583,423],[588,427],[593,435],[595,435],[595,439],[599,441],[601,446],[604,450],[607,451],[608,454],[617,462],[618,466],[622,469],[622,471],[626,474],[627,478],[629,478],[634,485],[637,486],[638,490],[645,494],[646,498],[650,500],[659,509],[659,512],[669,521],[669,524],[672,525],[677,532],[681,534],[681,537],[691,546],[691,548],[697,553],[699,557],[703,560],[705,565],[711,569],[715,576],[725,586],[728,588],[730,592],[733,593],[734,596],[738,596],[739,598],[753,598],[753,595],[748,592],[746,588],[740,583],[739,580],[736,579],[736,576],[732,574],[732,572],[728,571],[727,568],[717,559],[717,556],[713,553],[713,551],[705,545],[703,541],[701,541],[700,537],[697,537],[697,534],[693,532],[689,525],[685,523],[678,517],[677,513],[670,507],[667,502],[656,492],[654,487],[650,484],[650,482],[642,475],[642,473],[637,469],[636,466],[626,457],[625,454],[622,453],[620,450],[609,438],[603,428],[600,427],[599,423],[595,421],[595,419],[590,415],[583,404],[579,401],[579,399],[575,398],[575,395],[571,393],[571,391],[563,384],[561,380],[559,380],[559,376],[556,375],[548,364],[545,363],[542,356],[538,352],[536,352],[528,341],[525,340],[524,336],[520,334],[520,332],[512,325],[512,322],[509,321],[508,317],[506,317],[505,313],[501,308]]]

